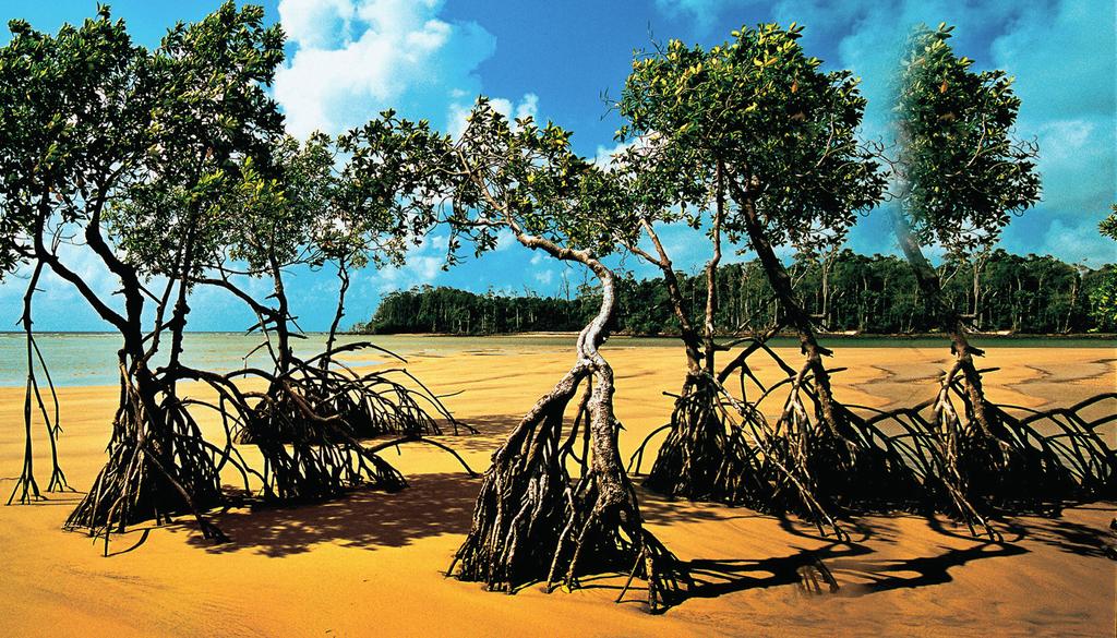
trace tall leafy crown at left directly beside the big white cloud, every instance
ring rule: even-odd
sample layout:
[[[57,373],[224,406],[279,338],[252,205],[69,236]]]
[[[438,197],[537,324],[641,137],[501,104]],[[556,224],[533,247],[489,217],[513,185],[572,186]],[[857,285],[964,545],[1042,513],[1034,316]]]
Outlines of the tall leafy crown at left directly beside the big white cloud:
[[[258,230],[258,216],[237,203],[262,190],[257,168],[269,168],[274,145],[290,152],[277,142],[283,116],[265,89],[283,34],[262,20],[259,7],[229,2],[178,25],[149,57],[146,171],[109,210],[114,236],[145,273],[189,279],[220,263],[230,237]]]

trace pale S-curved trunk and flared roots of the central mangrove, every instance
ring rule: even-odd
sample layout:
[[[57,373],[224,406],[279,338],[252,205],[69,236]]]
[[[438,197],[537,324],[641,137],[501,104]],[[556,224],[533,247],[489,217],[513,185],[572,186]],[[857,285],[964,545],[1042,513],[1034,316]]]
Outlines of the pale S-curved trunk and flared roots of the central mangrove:
[[[449,573],[510,593],[529,582],[545,580],[550,591],[556,583],[575,587],[584,573],[631,570],[648,579],[649,604],[657,609],[676,587],[670,577],[675,560],[643,529],[618,448],[613,372],[598,350],[615,310],[614,276],[585,251],[524,234],[517,239],[528,248],[588,266],[602,286],[601,308],[579,334],[573,368],[493,455],[472,527]],[[572,485],[566,459],[577,437],[572,431],[564,442],[562,426],[583,382],[592,382],[582,426],[588,428],[591,458]]]

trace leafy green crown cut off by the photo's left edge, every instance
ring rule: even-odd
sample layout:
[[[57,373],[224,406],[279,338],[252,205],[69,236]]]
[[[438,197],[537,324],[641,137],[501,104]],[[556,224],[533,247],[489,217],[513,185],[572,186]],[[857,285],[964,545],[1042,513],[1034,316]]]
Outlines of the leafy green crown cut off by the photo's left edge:
[[[9,23],[0,49],[0,267],[30,258],[63,226],[87,222],[136,179],[155,82],[145,53],[106,8],[56,36]],[[48,222],[59,225],[48,229]]]

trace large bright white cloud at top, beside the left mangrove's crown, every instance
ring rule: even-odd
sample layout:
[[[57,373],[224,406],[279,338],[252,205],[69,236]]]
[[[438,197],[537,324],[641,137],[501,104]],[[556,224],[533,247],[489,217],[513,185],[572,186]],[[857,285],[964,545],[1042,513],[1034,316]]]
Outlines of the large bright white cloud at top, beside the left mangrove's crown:
[[[287,130],[337,133],[385,108],[437,125],[480,92],[496,40],[476,22],[438,18],[441,0],[280,0],[295,54],[276,74]]]

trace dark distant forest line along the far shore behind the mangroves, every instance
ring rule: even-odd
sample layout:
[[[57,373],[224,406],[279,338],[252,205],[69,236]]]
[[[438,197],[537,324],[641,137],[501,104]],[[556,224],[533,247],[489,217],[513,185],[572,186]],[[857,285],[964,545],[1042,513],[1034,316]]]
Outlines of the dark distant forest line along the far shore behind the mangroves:
[[[1021,257],[996,250],[939,267],[945,298],[973,317],[982,331],[1056,334],[1114,332],[1117,322],[1097,312],[1091,293],[1117,266],[1098,269],[1054,257]],[[820,325],[832,331],[869,334],[919,333],[935,330],[908,264],[892,256],[867,257],[850,250],[824,259],[799,260],[790,272],[800,299]],[[706,302],[705,274],[679,274],[693,321]],[[658,278],[620,282],[618,331],[628,334],[674,334],[678,330]],[[569,297],[534,294],[475,294],[445,286],[422,286],[389,294],[371,321],[354,326],[363,333],[494,334],[577,331],[598,311],[595,287],[580,286]],[[717,269],[717,330],[722,333],[763,331],[772,325],[777,303],[756,261]]]

